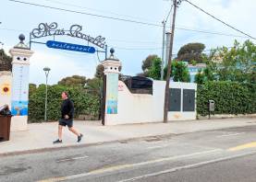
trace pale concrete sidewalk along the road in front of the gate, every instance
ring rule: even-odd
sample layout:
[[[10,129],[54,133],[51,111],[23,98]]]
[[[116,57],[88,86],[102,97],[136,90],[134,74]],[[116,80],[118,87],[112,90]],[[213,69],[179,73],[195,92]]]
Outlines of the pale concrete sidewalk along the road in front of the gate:
[[[168,123],[147,123],[117,126],[102,126],[100,121],[74,121],[74,126],[84,137],[77,143],[77,137],[63,131],[63,143],[53,144],[57,139],[57,122],[29,124],[29,131],[10,133],[10,141],[0,142],[0,155],[43,151],[68,146],[83,146],[99,142],[114,142],[140,137],[165,134],[182,134],[195,131],[211,131],[226,128],[256,125],[256,118],[202,119],[193,121],[170,121]]]

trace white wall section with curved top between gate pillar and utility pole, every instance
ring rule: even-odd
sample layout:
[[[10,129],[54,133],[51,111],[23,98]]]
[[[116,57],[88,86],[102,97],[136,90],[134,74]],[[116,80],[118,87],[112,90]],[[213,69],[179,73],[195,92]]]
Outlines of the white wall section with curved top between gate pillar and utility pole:
[[[153,95],[131,94],[127,85],[118,82],[117,114],[107,114],[106,125],[157,122],[163,120],[164,82],[153,83]]]

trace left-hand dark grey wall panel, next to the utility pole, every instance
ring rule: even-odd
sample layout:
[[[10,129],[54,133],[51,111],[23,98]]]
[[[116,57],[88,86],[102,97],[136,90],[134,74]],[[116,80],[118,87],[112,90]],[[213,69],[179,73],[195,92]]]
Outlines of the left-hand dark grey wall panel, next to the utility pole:
[[[181,109],[180,98],[181,98],[180,88],[169,89],[169,111],[180,111]]]

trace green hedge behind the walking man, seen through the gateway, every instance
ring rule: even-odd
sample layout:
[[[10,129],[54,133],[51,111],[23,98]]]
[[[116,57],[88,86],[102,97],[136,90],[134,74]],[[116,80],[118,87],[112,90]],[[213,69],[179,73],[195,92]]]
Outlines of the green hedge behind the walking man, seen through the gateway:
[[[65,85],[48,86],[47,119],[56,120],[60,117],[61,93],[67,91],[74,102],[75,117],[80,114],[97,116],[99,113],[99,98],[86,93],[79,87],[67,87]],[[39,122],[44,119],[45,85],[40,85],[30,92],[29,120]]]

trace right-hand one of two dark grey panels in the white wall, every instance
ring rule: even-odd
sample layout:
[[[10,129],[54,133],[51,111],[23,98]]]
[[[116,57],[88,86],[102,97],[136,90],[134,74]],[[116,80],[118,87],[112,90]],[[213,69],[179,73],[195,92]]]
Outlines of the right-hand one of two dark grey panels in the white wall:
[[[195,90],[183,89],[183,111],[195,111]]]

